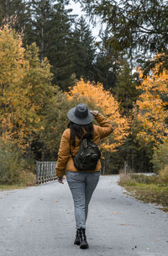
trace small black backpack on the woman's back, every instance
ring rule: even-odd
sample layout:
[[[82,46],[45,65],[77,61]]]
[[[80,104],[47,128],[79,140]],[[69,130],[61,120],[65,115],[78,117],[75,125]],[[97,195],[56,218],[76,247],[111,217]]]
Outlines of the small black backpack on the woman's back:
[[[92,141],[91,134],[86,133],[81,139],[81,145],[75,156],[72,155],[74,165],[77,170],[95,170],[101,152],[97,145]]]

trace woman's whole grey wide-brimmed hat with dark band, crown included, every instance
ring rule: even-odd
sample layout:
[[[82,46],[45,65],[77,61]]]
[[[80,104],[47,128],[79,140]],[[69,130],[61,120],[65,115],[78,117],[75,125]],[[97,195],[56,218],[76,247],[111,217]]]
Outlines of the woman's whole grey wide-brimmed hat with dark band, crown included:
[[[77,125],[88,125],[92,123],[93,115],[87,108],[86,104],[78,104],[75,108],[68,111],[67,114],[69,120]]]

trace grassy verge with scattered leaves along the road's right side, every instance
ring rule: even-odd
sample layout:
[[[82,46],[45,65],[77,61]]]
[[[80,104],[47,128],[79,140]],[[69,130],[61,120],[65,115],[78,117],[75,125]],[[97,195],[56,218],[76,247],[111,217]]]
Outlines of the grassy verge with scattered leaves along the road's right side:
[[[118,184],[128,191],[128,195],[145,203],[160,205],[160,209],[168,213],[168,182],[160,179],[160,176],[120,174]]]

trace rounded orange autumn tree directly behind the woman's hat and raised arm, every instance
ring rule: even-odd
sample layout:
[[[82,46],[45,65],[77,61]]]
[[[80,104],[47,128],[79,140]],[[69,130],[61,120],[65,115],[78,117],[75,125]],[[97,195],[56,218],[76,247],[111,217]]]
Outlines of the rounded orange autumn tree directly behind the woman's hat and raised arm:
[[[67,97],[69,100],[85,101],[86,99],[88,103],[93,103],[98,109],[102,109],[103,114],[107,115],[108,120],[115,124],[113,134],[102,142],[101,146],[104,150],[113,152],[116,150],[116,147],[123,143],[126,136],[128,136],[128,121],[120,115],[118,102],[113,98],[112,93],[104,90],[102,83],[85,83],[81,79],[73,88],[70,88]]]

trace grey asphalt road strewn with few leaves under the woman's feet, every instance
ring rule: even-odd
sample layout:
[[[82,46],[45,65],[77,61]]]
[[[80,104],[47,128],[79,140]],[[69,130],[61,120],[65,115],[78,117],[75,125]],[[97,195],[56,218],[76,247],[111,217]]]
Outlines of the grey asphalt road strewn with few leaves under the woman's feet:
[[[0,192],[0,256],[167,256],[168,214],[124,194],[118,175],[101,177],[87,220],[90,248],[73,244],[68,185],[56,181]]]

